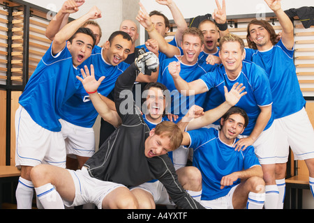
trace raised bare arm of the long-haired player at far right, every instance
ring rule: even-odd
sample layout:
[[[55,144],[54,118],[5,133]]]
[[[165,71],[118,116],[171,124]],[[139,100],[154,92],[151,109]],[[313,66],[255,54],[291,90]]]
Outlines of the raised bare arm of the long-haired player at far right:
[[[283,30],[281,31],[281,39],[283,44],[287,49],[292,49],[294,46],[294,33],[293,33],[293,24],[289,17],[285,14],[283,9],[281,8],[281,1],[278,0],[264,0],[269,8],[274,11],[276,17],[278,18],[281,27]]]

